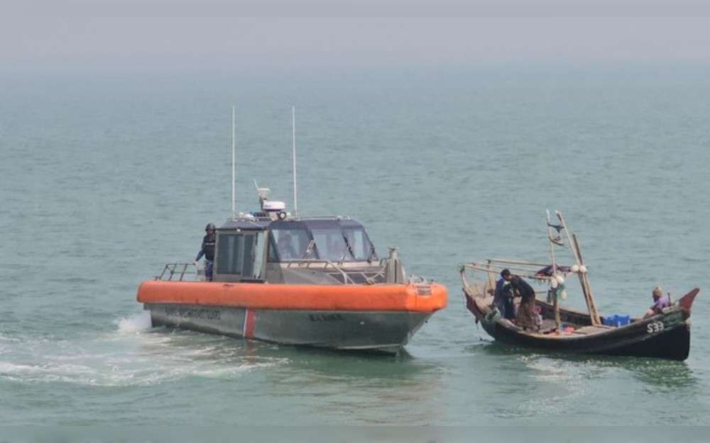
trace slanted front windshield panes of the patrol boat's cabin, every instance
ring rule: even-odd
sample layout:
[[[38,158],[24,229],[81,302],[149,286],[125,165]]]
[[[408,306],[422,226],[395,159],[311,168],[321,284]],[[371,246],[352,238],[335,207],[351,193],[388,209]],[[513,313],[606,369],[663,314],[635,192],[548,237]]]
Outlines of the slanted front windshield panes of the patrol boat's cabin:
[[[271,235],[270,262],[300,259],[365,262],[377,259],[365,229],[352,221],[277,222],[271,226]]]

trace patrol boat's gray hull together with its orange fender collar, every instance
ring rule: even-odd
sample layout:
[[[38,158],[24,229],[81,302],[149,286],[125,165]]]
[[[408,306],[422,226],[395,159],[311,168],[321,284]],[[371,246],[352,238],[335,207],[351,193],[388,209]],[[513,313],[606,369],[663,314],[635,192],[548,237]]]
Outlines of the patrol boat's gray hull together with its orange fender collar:
[[[153,325],[281,344],[396,354],[447,301],[438,284],[309,286],[148,281]]]

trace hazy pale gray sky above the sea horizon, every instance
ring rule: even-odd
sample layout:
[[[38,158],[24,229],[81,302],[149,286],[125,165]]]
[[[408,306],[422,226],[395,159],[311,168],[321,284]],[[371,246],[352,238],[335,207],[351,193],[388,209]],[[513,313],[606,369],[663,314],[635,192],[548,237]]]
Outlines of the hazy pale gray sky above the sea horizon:
[[[709,7],[699,2],[86,0],[4,8],[4,69],[710,61]],[[326,14],[334,17],[305,17]]]

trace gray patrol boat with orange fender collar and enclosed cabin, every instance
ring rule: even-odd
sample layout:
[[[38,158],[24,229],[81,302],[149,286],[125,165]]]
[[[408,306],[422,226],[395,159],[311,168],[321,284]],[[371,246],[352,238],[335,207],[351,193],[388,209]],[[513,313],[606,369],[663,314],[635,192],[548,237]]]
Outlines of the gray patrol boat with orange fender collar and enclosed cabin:
[[[447,304],[442,284],[378,259],[349,217],[295,217],[258,189],[261,211],[216,232],[212,281],[166,264],[138,288],[154,326],[339,350],[395,354]]]

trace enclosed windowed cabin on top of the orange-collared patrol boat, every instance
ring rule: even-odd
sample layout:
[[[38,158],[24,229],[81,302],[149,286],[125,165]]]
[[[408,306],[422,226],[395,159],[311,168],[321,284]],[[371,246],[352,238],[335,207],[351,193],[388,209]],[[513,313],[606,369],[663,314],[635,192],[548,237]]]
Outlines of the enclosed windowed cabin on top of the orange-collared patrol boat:
[[[346,284],[383,278],[365,228],[351,218],[263,213],[217,228],[213,281]]]

